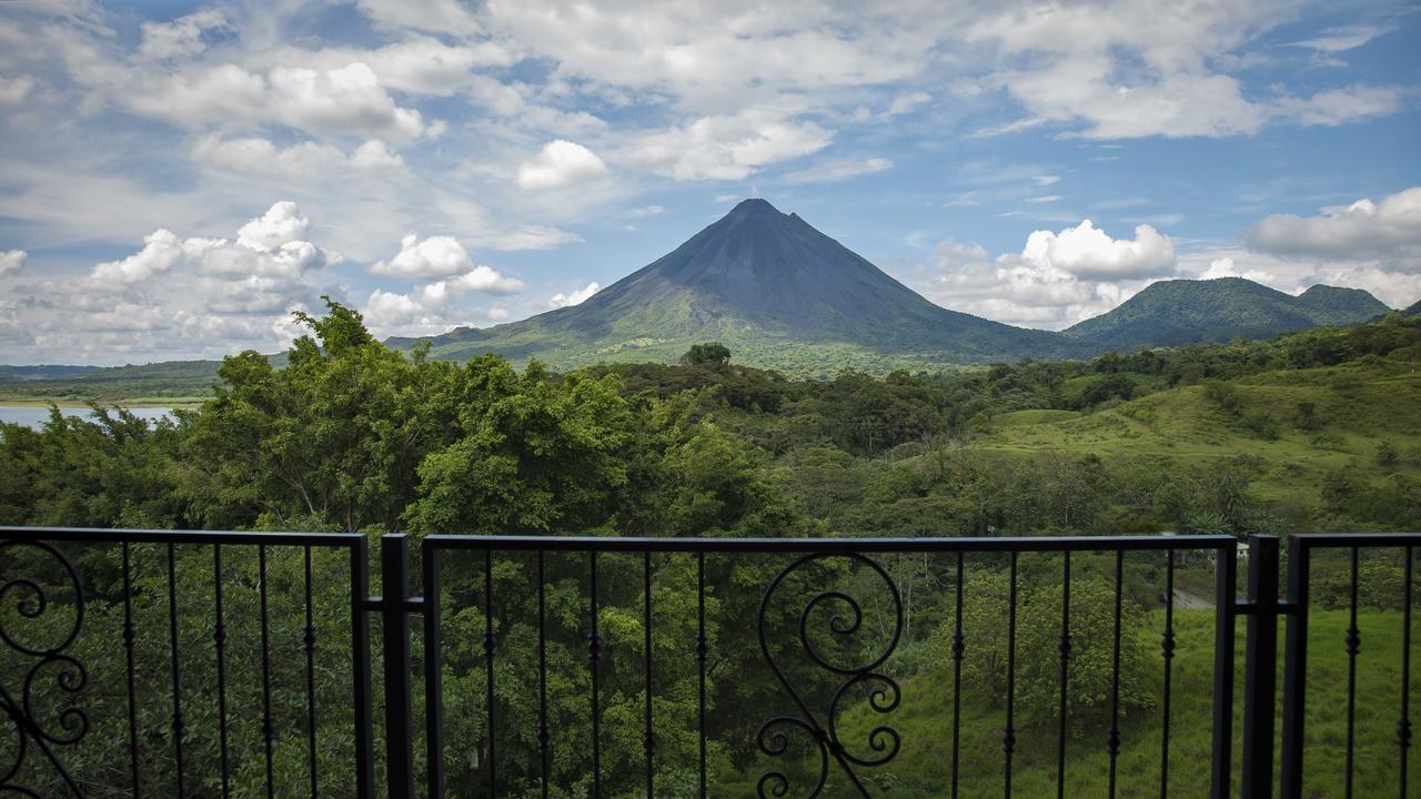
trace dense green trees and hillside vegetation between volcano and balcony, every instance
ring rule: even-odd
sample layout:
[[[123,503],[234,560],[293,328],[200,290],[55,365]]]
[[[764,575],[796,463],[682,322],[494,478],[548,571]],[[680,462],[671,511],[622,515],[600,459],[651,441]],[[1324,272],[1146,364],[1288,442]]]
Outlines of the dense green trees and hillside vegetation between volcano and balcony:
[[[1020,361],[885,377],[844,371],[818,381],[737,365],[735,353],[715,343],[692,347],[675,365],[610,364],[556,374],[534,363],[520,372],[493,355],[460,364],[429,360],[423,348],[391,350],[371,337],[357,313],[335,303],[324,316],[301,314],[301,320],[311,334],[296,341],[283,365],[257,353],[230,357],[212,397],[198,408],[175,411],[172,421],[151,425],[121,408],[95,407],[91,419],[54,411],[38,431],[6,425],[0,432],[0,523],[405,532],[416,540],[428,533],[1246,536],[1421,529],[1421,320],[1414,318],[1394,316],[1270,341],[1110,353],[1088,361]],[[220,566],[222,574],[246,589],[257,584],[257,564],[249,554],[234,552]],[[158,567],[163,553],[136,547],[134,556],[149,563],[136,586],[138,613],[161,618],[166,614]],[[98,574],[90,624],[117,626],[115,554],[84,557],[85,570]],[[185,603],[183,645],[210,658],[212,554],[179,552],[176,559],[185,591],[207,597]],[[642,756],[642,596],[638,559],[605,560],[603,766],[608,795],[622,795],[638,785]],[[293,597],[314,573],[317,600],[325,607],[318,621],[320,694],[323,707],[333,708],[323,725],[338,728],[344,691],[338,675],[350,668],[342,657],[348,648],[337,645],[347,634],[342,566],[317,554],[306,567],[294,552],[273,553],[269,566],[273,594],[280,597],[273,606],[276,627],[293,641],[301,638],[303,624]],[[756,728],[777,691],[757,671],[753,626],[742,620],[755,617],[760,587],[782,566],[749,559],[708,563],[715,708],[709,756],[716,782],[725,786],[718,795],[752,795],[764,771]],[[905,741],[934,739],[941,746],[949,564],[904,556],[888,559],[885,567],[907,610],[904,643],[888,668],[905,694],[917,690],[919,698],[912,708],[905,701],[899,731]],[[1378,556],[1364,567],[1371,570],[1368,584],[1395,587],[1397,557]],[[304,577],[303,569],[310,570]],[[495,726],[507,738],[499,779],[509,795],[531,790],[539,772],[537,691],[526,667],[517,665],[527,663],[536,643],[531,569],[531,560],[510,556],[493,579],[500,597],[495,628],[507,670],[499,672],[504,715]],[[554,624],[549,660],[561,674],[551,690],[558,731],[551,772],[556,795],[585,795],[585,748],[568,744],[587,735],[585,563],[551,557],[547,569]],[[658,731],[657,756],[666,769],[665,795],[692,795],[695,661],[686,653],[695,640],[695,563],[666,556],[655,569],[657,715],[666,725]],[[1080,678],[1073,684],[1070,712],[1080,725],[1077,734],[1091,741],[1083,749],[1098,749],[1090,736],[1100,728],[1108,641],[1087,631],[1108,627],[1114,590],[1108,569],[1104,559],[1083,557],[1073,581],[1073,626],[1081,630],[1083,645],[1071,655]],[[1138,744],[1140,758],[1148,759],[1150,736],[1158,739],[1150,724],[1158,704],[1161,569],[1161,562],[1142,559],[1127,569],[1123,704],[1140,729],[1138,736],[1127,736],[1127,758]],[[1179,584],[1195,599],[1206,596],[1211,569],[1205,563],[1192,569],[1182,569]],[[978,559],[969,572],[975,604],[965,620],[973,644],[963,667],[972,687],[968,724],[983,738],[1000,726],[993,721],[1002,694],[995,658],[1005,645],[999,621],[1007,587],[999,560]],[[450,785],[482,795],[475,786],[483,785],[487,763],[483,745],[473,742],[486,741],[486,719],[477,709],[485,691],[483,573],[473,560],[455,559],[443,573],[450,626],[445,695],[450,697],[449,739],[459,742],[449,755]],[[845,563],[821,563],[800,576],[804,586],[790,589],[814,583],[878,590],[871,577]],[[264,590],[266,580],[260,586]],[[1329,586],[1324,579],[1317,590],[1324,603],[1339,594]],[[1023,562],[1019,589],[1023,607],[1037,608],[1023,611],[1020,640],[1052,648],[1057,562]],[[1397,607],[1401,593],[1377,590],[1368,607],[1378,616],[1368,616],[1367,624],[1387,640],[1394,631],[1381,630],[1383,617],[1394,616],[1387,610]],[[253,603],[252,590],[234,589],[227,597],[227,626],[250,621]],[[793,638],[796,623],[789,608],[770,620],[784,640]],[[1191,690],[1206,694],[1209,667],[1201,653],[1212,645],[1212,631],[1204,618],[1187,614],[1181,628],[1196,633],[1181,648],[1181,664],[1194,664],[1182,674],[1192,680]],[[161,695],[166,631],[161,623],[139,630],[139,650],[152,663],[141,677]],[[107,663],[121,672],[122,655],[112,645],[80,645],[88,647],[84,657],[94,664]],[[232,651],[250,655],[252,645],[234,641]],[[1320,658],[1326,663],[1326,655]],[[253,658],[237,657],[233,664],[233,684],[240,687],[234,691],[247,691],[254,701]],[[95,675],[104,671],[99,665],[91,667]],[[1387,668],[1367,680],[1385,684],[1393,674]],[[796,667],[791,675],[810,692],[828,690],[826,675],[809,665]],[[195,707],[210,705],[206,680],[193,674],[185,684]],[[1047,671],[1026,672],[1022,685],[1026,728],[1046,729],[1054,712]],[[276,698],[279,717],[300,718],[304,695],[298,685],[291,688]],[[922,697],[931,702],[921,704],[929,701]],[[1385,701],[1380,691],[1376,701]],[[156,742],[165,735],[163,712],[159,701],[144,708],[144,728]],[[205,712],[210,717],[212,709]],[[95,721],[101,728],[91,736],[122,736],[122,714],[111,715],[111,728]],[[871,717],[871,708],[848,711],[845,726],[863,726],[867,736]],[[259,785],[257,728],[234,735],[249,744],[239,771],[247,769],[242,773]],[[1195,738],[1181,735],[1181,752],[1206,745],[1206,732]],[[277,741],[283,773],[301,772],[303,741],[298,724],[283,728]],[[348,734],[323,736],[323,763],[338,771],[350,746]],[[1000,751],[999,744],[983,749]],[[84,752],[87,771],[81,772],[91,779],[101,782],[102,775],[122,771],[124,752],[105,754],[94,745]],[[212,746],[190,754],[196,763],[216,756]],[[898,782],[881,788],[904,796],[926,792],[941,781],[941,758],[921,746],[905,751],[902,768],[884,776]],[[1059,776],[1050,775],[1046,761],[1023,754],[1026,785]],[[999,763],[988,755],[963,768],[969,783],[978,779],[983,786],[999,773]],[[172,778],[171,763],[161,758],[152,769],[155,781]],[[1188,783],[1199,776],[1179,779]],[[1148,783],[1147,778],[1154,779],[1131,779]],[[458,790],[465,795],[465,788]],[[831,785],[837,795],[833,790]]]

